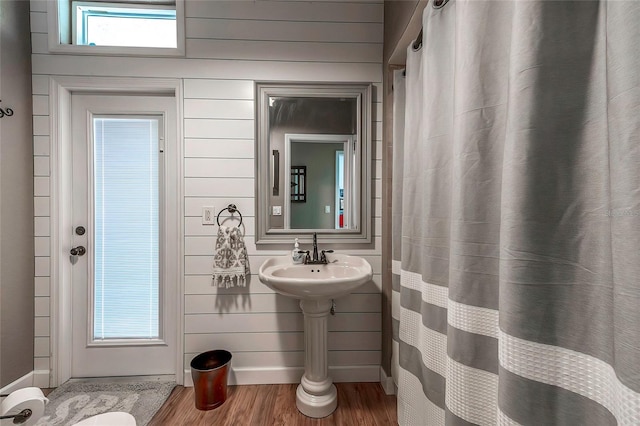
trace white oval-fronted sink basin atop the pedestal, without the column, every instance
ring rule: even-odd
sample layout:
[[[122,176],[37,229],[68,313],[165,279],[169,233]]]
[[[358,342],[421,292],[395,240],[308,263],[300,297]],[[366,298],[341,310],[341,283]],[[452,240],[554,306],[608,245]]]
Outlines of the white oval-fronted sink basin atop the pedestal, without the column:
[[[369,262],[358,256],[327,254],[326,265],[294,264],[291,256],[266,260],[258,275],[276,292],[297,299],[335,299],[371,280]]]

